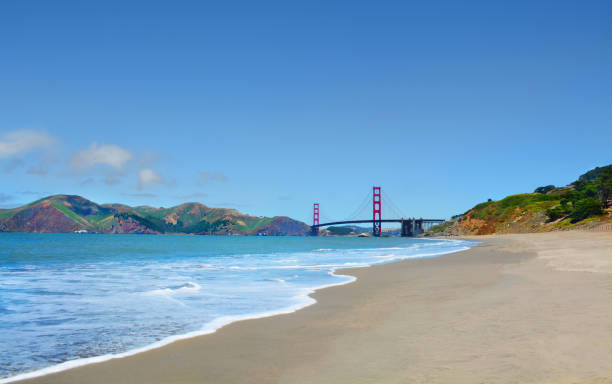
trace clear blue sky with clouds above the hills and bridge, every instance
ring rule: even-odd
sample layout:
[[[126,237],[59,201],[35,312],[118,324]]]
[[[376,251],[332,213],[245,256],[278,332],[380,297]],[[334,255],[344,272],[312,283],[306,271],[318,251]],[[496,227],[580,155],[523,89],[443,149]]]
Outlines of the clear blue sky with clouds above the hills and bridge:
[[[0,205],[344,218],[612,162],[612,2],[0,2]],[[383,216],[385,215],[383,200]]]

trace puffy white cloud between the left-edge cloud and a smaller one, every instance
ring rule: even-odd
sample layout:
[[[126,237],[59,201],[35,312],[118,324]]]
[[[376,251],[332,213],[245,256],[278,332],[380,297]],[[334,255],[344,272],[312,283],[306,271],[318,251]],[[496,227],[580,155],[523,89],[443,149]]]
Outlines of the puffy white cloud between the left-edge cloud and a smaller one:
[[[98,145],[94,142],[89,148],[82,149],[72,155],[70,165],[75,170],[83,170],[97,164],[104,164],[116,171],[121,171],[132,156],[130,151],[117,145]]]

